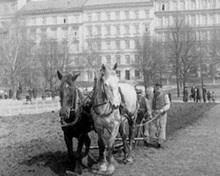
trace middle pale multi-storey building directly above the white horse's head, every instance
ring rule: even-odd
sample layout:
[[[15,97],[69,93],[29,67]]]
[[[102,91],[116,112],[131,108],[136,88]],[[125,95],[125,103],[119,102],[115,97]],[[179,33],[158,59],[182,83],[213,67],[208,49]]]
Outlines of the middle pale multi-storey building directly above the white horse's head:
[[[153,33],[153,3],[147,0],[90,0],[83,7],[84,48],[97,41],[101,63],[118,63],[121,80],[140,79],[132,64],[137,58],[137,40]]]

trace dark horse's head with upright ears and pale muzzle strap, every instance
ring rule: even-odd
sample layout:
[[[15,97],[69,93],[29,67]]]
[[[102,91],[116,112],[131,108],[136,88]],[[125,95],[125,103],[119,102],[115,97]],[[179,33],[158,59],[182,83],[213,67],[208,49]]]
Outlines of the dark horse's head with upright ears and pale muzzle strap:
[[[61,81],[59,92],[60,92],[60,122],[61,125],[75,124],[79,119],[79,95],[78,89],[75,85],[75,80],[79,74],[71,75],[67,74],[63,76],[57,71],[57,76]]]

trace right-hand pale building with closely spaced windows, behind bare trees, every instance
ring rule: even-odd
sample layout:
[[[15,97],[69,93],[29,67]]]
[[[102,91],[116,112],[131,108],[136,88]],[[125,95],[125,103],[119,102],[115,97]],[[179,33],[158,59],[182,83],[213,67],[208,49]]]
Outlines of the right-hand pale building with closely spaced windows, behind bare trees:
[[[167,32],[173,28],[177,16],[182,18],[187,26],[193,28],[196,40],[202,43],[202,59],[205,61],[203,70],[210,73],[213,68],[213,56],[210,54],[212,53],[211,45],[213,40],[220,40],[220,1],[155,0],[154,13],[154,33],[159,38],[166,38]]]

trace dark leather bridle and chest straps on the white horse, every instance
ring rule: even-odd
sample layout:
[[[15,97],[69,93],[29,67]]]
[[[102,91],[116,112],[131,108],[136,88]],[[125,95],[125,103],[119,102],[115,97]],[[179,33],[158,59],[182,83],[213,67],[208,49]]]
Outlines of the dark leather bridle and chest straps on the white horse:
[[[97,79],[97,78],[96,78],[96,79]],[[96,86],[96,84],[97,84],[96,81],[97,81],[97,80],[95,80],[95,86]],[[94,90],[95,90],[95,87],[94,87]],[[102,117],[107,117],[107,116],[109,116],[110,114],[112,114],[114,110],[118,109],[119,106],[114,106],[114,105],[112,104],[112,102],[109,100],[109,98],[108,98],[108,96],[107,96],[107,93],[106,93],[106,90],[105,90],[105,86],[104,86],[103,83],[102,83],[102,90],[103,90],[103,94],[104,94],[104,102],[93,105],[92,109],[93,109],[93,111],[96,113],[96,115],[102,116]],[[106,113],[106,112],[101,113],[101,112],[99,112],[99,111],[97,110],[98,107],[101,107],[101,106],[104,106],[104,105],[107,105],[107,104],[109,104],[109,106],[110,106],[110,111],[109,111],[108,113]]]

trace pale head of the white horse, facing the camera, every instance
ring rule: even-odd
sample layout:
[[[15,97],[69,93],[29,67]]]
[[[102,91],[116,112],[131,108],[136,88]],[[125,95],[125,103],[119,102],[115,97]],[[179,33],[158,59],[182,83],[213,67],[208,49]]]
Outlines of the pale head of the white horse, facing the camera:
[[[109,101],[113,107],[118,107],[121,97],[118,92],[119,78],[116,74],[117,63],[111,68],[109,65],[102,65],[97,80],[98,86],[103,92],[104,98]]]

